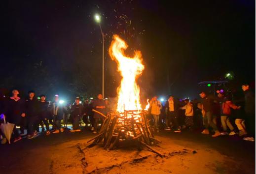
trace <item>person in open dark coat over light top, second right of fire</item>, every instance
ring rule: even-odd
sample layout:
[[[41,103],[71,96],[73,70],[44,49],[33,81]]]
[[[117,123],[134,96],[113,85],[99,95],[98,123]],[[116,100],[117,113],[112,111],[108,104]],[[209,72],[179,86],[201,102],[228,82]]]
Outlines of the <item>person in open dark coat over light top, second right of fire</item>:
[[[181,132],[178,124],[178,102],[172,95],[169,96],[166,102],[166,126],[167,130],[171,130],[170,122],[173,124],[174,132]]]

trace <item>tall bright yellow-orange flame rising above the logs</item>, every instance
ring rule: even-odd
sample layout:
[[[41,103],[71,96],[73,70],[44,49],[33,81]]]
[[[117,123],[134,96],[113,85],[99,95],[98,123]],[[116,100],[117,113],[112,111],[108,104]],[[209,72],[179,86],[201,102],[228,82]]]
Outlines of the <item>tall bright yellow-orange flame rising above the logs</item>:
[[[144,70],[142,64],[142,54],[135,51],[134,57],[130,58],[124,54],[128,45],[118,35],[113,35],[109,54],[112,60],[118,65],[118,71],[122,76],[121,84],[117,88],[118,93],[118,112],[124,110],[142,110],[140,103],[140,87],[136,81]]]

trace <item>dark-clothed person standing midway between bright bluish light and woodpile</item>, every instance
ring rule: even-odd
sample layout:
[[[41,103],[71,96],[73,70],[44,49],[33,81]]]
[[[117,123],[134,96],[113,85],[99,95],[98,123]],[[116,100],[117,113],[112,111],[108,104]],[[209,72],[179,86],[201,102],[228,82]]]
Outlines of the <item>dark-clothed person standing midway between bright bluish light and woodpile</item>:
[[[79,102],[80,102],[79,97],[76,97],[75,103],[71,106],[71,116],[73,118],[73,130],[70,130],[70,132],[81,131],[81,129],[79,129],[79,121],[81,116],[83,115],[83,106]]]

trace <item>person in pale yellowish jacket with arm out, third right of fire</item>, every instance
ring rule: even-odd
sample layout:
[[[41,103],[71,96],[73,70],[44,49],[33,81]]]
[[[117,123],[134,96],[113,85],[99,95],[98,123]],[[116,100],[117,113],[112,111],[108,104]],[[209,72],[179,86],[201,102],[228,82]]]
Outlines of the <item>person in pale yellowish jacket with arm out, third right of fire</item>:
[[[188,127],[189,129],[192,128],[192,126],[194,125],[194,122],[193,122],[193,116],[194,116],[194,111],[193,111],[193,105],[191,102],[189,102],[189,99],[185,99],[185,103],[186,105],[183,106],[182,110],[185,110],[185,124],[186,124],[186,127]]]

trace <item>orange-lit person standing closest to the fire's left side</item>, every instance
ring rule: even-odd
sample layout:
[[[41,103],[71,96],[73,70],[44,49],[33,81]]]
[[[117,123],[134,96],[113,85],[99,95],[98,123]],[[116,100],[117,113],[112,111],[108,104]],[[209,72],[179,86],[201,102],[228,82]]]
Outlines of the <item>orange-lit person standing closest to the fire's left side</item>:
[[[103,100],[102,94],[99,94],[98,98],[93,102],[93,108],[96,111],[99,111],[103,114],[105,113],[106,105],[105,105],[105,102]],[[97,133],[98,122],[99,122],[99,120],[101,120],[101,122],[103,123],[105,117],[101,116],[98,113],[94,113],[93,117],[94,117],[94,120],[95,120],[94,121],[94,132],[93,133]]]

